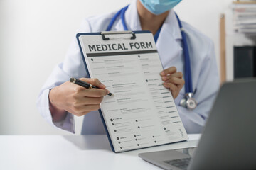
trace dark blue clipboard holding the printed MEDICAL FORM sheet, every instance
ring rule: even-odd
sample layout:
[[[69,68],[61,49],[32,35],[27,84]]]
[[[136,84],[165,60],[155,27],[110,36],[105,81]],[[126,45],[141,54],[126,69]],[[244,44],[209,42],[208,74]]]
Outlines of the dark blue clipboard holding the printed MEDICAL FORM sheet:
[[[100,113],[114,152],[187,140],[174,98],[162,85],[163,70],[154,37],[131,34],[77,35],[87,74],[114,96],[105,96]]]

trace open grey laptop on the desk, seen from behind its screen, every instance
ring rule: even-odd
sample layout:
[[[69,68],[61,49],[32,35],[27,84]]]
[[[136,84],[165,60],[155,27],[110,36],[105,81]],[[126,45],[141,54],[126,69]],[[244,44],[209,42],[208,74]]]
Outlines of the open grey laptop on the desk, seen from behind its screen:
[[[221,86],[192,155],[165,150],[139,157],[163,169],[256,169],[256,79]]]

